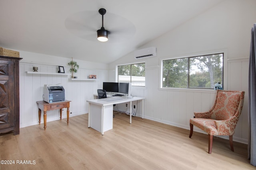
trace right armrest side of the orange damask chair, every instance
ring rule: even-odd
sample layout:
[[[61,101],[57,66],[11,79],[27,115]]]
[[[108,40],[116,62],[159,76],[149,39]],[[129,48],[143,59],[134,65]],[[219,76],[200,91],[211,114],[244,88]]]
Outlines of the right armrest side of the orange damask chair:
[[[233,135],[235,132],[238,117],[230,117],[228,120],[215,120],[218,135]]]

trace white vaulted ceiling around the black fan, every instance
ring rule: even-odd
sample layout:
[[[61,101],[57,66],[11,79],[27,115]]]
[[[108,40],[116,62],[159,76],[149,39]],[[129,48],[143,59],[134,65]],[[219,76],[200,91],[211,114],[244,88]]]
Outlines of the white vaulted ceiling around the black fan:
[[[0,0],[0,47],[111,63],[221,1]],[[107,42],[96,40],[100,8]]]

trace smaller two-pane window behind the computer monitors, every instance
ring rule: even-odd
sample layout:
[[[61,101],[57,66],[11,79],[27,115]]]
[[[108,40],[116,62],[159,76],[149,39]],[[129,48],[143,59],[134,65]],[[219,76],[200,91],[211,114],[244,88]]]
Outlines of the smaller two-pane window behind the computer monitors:
[[[131,82],[132,86],[145,86],[145,63],[118,66],[118,82]]]

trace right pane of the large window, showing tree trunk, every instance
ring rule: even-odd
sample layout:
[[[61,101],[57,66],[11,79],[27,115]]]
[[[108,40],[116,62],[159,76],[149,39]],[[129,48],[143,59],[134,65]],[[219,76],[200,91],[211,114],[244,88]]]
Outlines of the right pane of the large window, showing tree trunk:
[[[222,84],[223,54],[191,57],[190,88],[214,88],[216,82]]]

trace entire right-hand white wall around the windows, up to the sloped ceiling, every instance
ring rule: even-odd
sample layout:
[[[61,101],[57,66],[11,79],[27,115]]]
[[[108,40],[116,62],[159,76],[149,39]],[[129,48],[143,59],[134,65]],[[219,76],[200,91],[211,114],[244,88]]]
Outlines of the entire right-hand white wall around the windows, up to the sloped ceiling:
[[[146,62],[146,87],[133,95],[146,97],[144,117],[189,129],[194,111],[207,111],[213,105],[216,91],[160,89],[160,61],[175,57],[224,52],[225,90],[246,92],[242,115],[234,141],[248,142],[248,65],[251,27],[256,23],[255,0],[226,0],[214,8],[170,30],[144,47],[157,47],[157,57],[136,60],[134,53],[109,64],[109,76],[115,76],[118,64]],[[171,22],[171,21],[170,21]],[[139,96],[139,95],[138,95]],[[200,131],[196,129],[196,131]],[[200,131],[202,132],[202,131]]]

